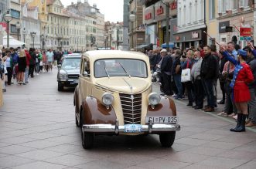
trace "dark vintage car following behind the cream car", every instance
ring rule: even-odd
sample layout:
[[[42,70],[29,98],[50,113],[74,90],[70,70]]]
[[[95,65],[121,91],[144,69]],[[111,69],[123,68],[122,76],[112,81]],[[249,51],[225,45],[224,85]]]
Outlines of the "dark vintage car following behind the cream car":
[[[63,87],[76,87],[80,74],[81,55],[64,56],[60,65],[58,65],[58,90]]]

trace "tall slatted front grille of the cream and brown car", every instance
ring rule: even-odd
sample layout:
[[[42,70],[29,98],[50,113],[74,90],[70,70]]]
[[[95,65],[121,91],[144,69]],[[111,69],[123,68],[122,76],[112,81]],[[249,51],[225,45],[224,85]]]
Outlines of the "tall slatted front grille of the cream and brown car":
[[[124,122],[141,123],[142,117],[142,94],[119,94],[121,108],[124,114]]]

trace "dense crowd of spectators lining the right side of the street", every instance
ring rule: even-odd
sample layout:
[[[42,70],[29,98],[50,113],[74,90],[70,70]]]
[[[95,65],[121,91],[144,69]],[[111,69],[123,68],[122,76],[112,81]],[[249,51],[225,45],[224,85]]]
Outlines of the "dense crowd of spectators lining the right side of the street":
[[[244,49],[234,42],[217,46],[193,46],[189,49],[153,49],[146,52],[152,68],[152,81],[159,80],[162,95],[183,100],[195,110],[214,112],[224,104],[219,116],[233,117],[237,126],[230,131],[256,127],[256,47],[248,43]],[[182,72],[189,69],[190,78],[183,82]],[[156,78],[157,77],[157,78]],[[221,100],[217,100],[220,83]],[[207,100],[207,104],[204,104]]]

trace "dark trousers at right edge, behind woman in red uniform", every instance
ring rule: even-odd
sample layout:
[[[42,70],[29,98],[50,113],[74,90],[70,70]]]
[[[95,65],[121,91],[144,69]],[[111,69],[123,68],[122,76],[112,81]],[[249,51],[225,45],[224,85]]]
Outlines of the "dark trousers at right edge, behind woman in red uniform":
[[[251,100],[248,102],[249,105],[249,119],[252,123],[256,123],[256,89],[251,88],[250,94],[251,94]]]

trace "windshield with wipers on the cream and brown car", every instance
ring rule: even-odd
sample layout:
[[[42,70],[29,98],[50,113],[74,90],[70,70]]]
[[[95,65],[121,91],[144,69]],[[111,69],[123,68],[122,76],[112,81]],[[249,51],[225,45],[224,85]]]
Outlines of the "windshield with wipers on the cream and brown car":
[[[134,76],[148,77],[147,66],[138,59],[99,59],[94,63],[95,77]]]

